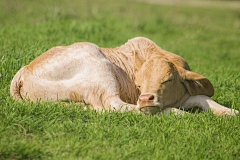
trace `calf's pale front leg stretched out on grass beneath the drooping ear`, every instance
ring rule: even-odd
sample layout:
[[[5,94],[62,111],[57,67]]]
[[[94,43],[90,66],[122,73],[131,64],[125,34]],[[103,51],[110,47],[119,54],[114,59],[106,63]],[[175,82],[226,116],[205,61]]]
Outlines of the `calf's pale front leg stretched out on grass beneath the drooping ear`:
[[[191,96],[181,105],[181,107],[184,109],[189,109],[192,107],[202,107],[204,111],[210,109],[216,116],[235,116],[239,114],[239,111],[224,107],[205,95]]]

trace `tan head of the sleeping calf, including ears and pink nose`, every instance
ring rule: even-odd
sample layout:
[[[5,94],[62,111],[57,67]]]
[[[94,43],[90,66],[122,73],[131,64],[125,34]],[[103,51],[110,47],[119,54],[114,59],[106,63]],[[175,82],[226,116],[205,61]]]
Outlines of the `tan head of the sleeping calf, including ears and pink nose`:
[[[174,65],[167,58],[155,56],[143,61],[135,60],[135,83],[140,90],[137,105],[146,114],[171,107],[190,95],[213,96],[211,82],[196,73]]]

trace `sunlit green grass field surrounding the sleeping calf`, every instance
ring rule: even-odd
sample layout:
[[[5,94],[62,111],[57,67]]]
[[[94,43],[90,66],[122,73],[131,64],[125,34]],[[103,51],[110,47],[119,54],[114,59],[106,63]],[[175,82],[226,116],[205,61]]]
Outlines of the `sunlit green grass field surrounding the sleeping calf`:
[[[216,102],[240,110],[240,12],[134,1],[0,1],[0,159],[240,159],[240,116],[184,117],[19,103],[16,72],[74,42],[116,47],[144,36],[210,79]]]

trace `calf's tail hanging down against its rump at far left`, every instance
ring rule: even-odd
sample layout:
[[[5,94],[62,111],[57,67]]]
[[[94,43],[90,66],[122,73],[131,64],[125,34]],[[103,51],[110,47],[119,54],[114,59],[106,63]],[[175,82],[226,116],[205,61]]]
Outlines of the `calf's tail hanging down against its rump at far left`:
[[[23,85],[23,80],[21,79],[21,71],[23,68],[17,72],[17,74],[14,76],[11,86],[10,86],[10,93],[13,96],[13,99],[22,101],[22,97],[20,94],[20,89]]]

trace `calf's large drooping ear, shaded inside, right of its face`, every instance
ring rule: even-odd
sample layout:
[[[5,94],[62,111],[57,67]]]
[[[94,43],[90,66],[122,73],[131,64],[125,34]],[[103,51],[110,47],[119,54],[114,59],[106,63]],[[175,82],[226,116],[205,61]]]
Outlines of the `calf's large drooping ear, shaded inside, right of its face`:
[[[206,95],[212,97],[214,95],[213,85],[206,77],[183,68],[180,70],[179,74],[181,76],[181,82],[191,96]]]

